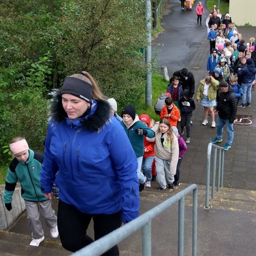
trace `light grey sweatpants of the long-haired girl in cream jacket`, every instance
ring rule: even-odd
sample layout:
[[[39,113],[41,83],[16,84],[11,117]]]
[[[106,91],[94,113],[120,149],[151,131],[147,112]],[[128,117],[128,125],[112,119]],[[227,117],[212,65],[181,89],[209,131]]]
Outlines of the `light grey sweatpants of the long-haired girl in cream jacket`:
[[[171,184],[174,181],[174,175],[170,173],[170,164],[171,160],[164,160],[155,156],[156,162],[156,181],[159,184],[159,187],[166,187],[166,181],[168,184]]]

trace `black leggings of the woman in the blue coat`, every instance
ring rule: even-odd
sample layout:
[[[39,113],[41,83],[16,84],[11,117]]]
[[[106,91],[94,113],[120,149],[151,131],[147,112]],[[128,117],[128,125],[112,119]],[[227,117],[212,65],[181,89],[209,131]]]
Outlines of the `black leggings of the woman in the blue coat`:
[[[109,234],[121,226],[121,213],[119,211],[114,214],[86,214],[78,211],[73,205],[59,200],[58,230],[62,246],[68,251],[76,252],[94,242],[86,235],[91,219],[94,223],[95,240]],[[118,246],[115,245],[102,255],[119,255]]]

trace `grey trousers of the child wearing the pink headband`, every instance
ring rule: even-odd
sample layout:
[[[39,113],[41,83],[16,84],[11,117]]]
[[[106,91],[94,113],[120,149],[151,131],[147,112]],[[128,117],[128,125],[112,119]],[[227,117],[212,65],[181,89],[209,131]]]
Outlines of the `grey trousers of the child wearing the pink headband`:
[[[31,202],[25,200],[25,205],[27,210],[27,220],[34,239],[39,239],[44,236],[42,223],[39,220],[40,212],[45,219],[47,227],[54,228],[57,226],[57,216],[52,209],[52,200],[42,202]]]

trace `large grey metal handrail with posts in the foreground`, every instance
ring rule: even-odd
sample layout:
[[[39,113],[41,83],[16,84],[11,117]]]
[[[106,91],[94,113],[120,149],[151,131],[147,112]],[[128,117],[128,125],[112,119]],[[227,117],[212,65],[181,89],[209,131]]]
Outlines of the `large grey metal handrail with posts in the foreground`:
[[[193,227],[192,227],[192,255],[196,256],[197,251],[197,186],[190,185],[178,194],[167,199],[163,203],[155,206],[153,209],[143,213],[138,218],[125,224],[108,235],[101,237],[97,241],[87,245],[83,249],[71,254],[74,256],[96,256],[109,250],[117,243],[123,241],[126,237],[132,235],[135,231],[142,228],[142,255],[151,256],[151,220],[160,213],[166,211],[171,205],[179,202],[179,223],[178,223],[178,255],[184,255],[184,210],[185,195],[193,191]]]

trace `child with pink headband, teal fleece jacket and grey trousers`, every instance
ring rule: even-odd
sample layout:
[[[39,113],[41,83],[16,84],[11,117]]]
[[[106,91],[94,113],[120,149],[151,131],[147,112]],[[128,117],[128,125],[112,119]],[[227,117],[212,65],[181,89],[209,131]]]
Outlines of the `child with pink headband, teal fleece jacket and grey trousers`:
[[[10,142],[10,150],[14,156],[5,178],[3,201],[8,211],[12,210],[12,196],[17,182],[21,185],[21,197],[25,201],[27,220],[32,231],[29,245],[39,246],[44,240],[44,230],[39,216],[42,214],[46,226],[50,227],[52,238],[57,238],[57,217],[52,209],[52,200],[41,193],[40,172],[43,155],[28,147],[26,139],[15,137]],[[40,214],[41,213],[41,214]]]

